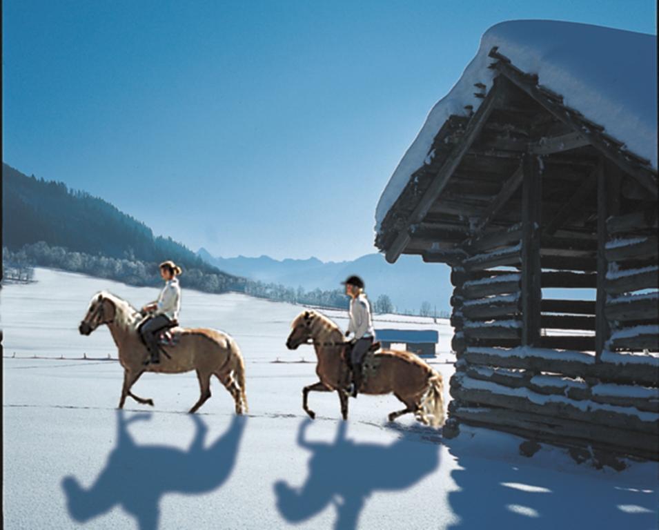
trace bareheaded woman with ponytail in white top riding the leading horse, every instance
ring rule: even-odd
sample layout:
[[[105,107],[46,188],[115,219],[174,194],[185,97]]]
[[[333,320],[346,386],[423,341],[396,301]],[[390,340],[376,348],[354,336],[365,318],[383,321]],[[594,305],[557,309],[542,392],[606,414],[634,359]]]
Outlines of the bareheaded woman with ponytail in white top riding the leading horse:
[[[181,267],[173,261],[160,264],[160,275],[165,280],[158,300],[146,304],[142,308],[148,317],[139,326],[144,344],[151,355],[146,364],[157,364],[160,362],[158,335],[165,329],[178,324],[179,310],[181,308],[181,288],[177,276],[181,274]]]

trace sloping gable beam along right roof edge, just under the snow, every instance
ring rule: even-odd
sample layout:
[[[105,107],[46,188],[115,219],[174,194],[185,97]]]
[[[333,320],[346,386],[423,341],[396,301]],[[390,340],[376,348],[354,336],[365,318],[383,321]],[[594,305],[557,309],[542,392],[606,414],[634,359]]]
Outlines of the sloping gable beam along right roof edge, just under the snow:
[[[634,177],[639,184],[649,191],[652,197],[658,197],[659,192],[656,172],[653,172],[647,167],[640,166],[640,164],[637,165],[625,157],[620,152],[619,146],[616,146],[611,141],[607,141],[605,137],[602,138],[600,131],[597,130],[596,124],[592,124],[592,122],[584,119],[583,116],[578,116],[576,111],[567,108],[558,101],[555,101],[555,99],[543,94],[536,84],[529,81],[529,76],[524,75],[523,72],[514,66],[511,66],[509,63],[497,61],[494,64],[494,68],[504,75],[506,79],[512,81],[513,84],[535,99],[535,101],[538,101],[538,103],[551,112],[555,118],[569,126],[574,132],[579,133],[586,138],[596,150],[604,155],[604,157],[611,160],[613,164],[616,164],[616,166],[622,169],[624,173]]]

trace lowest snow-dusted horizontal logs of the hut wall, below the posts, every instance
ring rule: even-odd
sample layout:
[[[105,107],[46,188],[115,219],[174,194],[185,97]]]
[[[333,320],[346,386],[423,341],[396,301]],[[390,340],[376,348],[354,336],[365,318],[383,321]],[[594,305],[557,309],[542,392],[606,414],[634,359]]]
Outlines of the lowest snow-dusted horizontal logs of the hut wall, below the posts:
[[[467,348],[451,422],[659,460],[659,358],[528,346]]]

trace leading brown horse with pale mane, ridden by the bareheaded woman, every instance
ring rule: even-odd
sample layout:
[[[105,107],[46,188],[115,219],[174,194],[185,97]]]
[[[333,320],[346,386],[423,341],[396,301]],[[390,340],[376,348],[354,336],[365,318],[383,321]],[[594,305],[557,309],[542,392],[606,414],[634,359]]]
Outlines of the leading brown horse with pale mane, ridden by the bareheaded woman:
[[[174,328],[179,336],[175,346],[164,346],[159,364],[144,365],[149,354],[141,342],[137,326],[141,313],[125,300],[101,292],[92,297],[87,313],[80,323],[82,335],[89,335],[101,324],[106,324],[119,349],[119,362],[124,367],[124,387],[121,390],[119,409],[124,408],[126,397],[141,404],[153,406],[153,400],[138,397],[130,391],[144,372],[181,373],[197,371],[201,396],[190,409],[194,413],[210,397],[210,377],[217,379],[232,395],[237,414],[247,412],[245,395],[245,364],[242,355],[229,335],[215,329]]]

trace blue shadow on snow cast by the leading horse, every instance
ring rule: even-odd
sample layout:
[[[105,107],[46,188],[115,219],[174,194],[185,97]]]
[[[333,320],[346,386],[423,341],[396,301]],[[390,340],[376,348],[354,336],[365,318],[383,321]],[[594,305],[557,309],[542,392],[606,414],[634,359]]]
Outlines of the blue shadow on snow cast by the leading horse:
[[[142,413],[126,419],[124,411],[117,411],[117,446],[94,484],[83,489],[74,477],[62,480],[74,520],[86,522],[119,505],[136,518],[140,530],[155,530],[159,502],[166,493],[208,493],[230,477],[246,418],[235,416],[228,430],[204,447],[208,426],[198,415],[190,415],[196,431],[187,451],[175,446],[136,444],[128,424],[150,418],[150,413]]]

